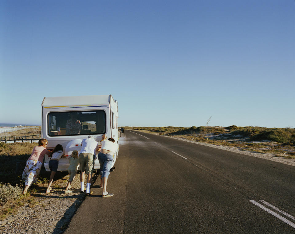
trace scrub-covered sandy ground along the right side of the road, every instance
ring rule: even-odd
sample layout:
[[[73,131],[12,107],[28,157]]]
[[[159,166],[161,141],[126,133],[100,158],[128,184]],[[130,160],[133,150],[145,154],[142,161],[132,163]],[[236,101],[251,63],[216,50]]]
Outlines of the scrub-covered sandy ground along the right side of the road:
[[[239,150],[270,153],[276,157],[295,159],[295,129],[238,127],[231,125],[183,127],[124,127],[125,129],[153,132],[187,140],[236,147]]]

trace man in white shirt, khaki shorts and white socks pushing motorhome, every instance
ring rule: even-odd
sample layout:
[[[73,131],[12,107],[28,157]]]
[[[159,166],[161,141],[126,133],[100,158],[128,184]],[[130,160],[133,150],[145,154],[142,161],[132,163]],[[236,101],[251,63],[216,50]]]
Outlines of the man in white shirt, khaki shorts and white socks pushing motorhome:
[[[93,192],[90,191],[90,185],[92,180],[92,174],[94,169],[94,160],[96,157],[96,146],[97,142],[94,140],[93,136],[88,136],[86,139],[83,139],[81,142],[81,151],[79,154],[79,163],[80,163],[80,182],[81,182],[81,192],[85,191],[84,179],[85,174],[88,175],[86,183],[86,195],[90,195]]]

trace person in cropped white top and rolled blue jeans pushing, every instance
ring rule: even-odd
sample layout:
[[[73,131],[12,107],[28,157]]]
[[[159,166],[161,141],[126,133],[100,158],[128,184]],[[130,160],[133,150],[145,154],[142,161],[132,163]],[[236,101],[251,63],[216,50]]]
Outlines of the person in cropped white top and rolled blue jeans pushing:
[[[113,138],[108,138],[104,134],[102,135],[102,140],[100,141],[101,149],[98,154],[98,160],[100,164],[100,188],[102,188],[102,197],[112,197],[114,194],[107,192],[107,182],[108,175],[110,174],[110,169],[112,167],[112,163],[114,162],[113,155],[116,152],[116,144]],[[97,146],[97,148],[100,145]],[[98,149],[97,149],[98,150]]]

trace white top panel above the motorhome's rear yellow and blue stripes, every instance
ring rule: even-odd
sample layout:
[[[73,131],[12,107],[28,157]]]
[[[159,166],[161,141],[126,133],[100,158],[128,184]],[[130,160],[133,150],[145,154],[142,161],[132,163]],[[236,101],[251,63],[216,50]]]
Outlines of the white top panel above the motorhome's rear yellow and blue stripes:
[[[109,105],[109,98],[110,95],[45,97],[42,106]]]

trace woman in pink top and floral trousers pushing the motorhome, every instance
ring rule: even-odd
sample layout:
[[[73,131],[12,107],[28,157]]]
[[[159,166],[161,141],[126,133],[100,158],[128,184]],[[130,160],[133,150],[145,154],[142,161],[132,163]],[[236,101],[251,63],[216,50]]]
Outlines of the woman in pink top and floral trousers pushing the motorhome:
[[[47,144],[48,141],[46,139],[40,139],[38,146],[33,148],[33,152],[27,160],[25,170],[22,173],[22,178],[25,179],[25,188],[22,192],[23,194],[26,194],[29,186],[31,186],[32,183],[36,183],[38,180],[43,158],[45,154],[50,154],[50,152],[46,149]]]

